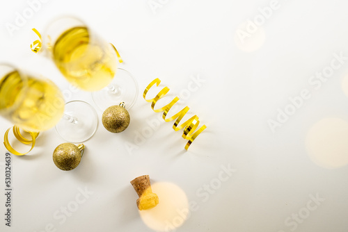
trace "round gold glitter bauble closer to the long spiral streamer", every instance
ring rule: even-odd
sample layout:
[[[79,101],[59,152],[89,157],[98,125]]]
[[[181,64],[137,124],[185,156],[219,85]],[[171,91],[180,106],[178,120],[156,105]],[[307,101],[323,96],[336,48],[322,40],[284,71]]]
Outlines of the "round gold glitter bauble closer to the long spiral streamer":
[[[120,133],[125,131],[129,125],[129,113],[122,106],[110,106],[104,111],[102,122],[106,130],[112,133]]]

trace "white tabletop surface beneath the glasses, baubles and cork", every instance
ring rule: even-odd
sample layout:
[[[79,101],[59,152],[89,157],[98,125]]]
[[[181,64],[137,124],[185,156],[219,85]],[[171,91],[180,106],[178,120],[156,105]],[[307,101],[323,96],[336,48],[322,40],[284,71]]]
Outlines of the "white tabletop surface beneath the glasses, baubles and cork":
[[[347,1],[279,0],[278,10],[246,44],[236,38],[238,26],[271,1],[160,2],[155,14],[148,0],[51,0],[10,37],[4,24],[14,24],[16,12],[29,5],[1,1],[1,61],[68,91],[52,61],[32,53],[29,44],[36,39],[31,28],[42,31],[54,17],[76,15],[115,44],[125,60],[120,67],[134,74],[140,89],[127,131],[113,135],[100,124],[84,143],[77,169],[55,167],[52,151],[64,141],[54,129],[40,135],[31,154],[12,157],[13,222],[9,229],[2,216],[1,231],[152,231],[129,184],[142,174],[152,184],[177,185],[197,202],[177,231],[347,231],[348,60],[318,90],[308,83],[330,65],[333,53],[348,56]],[[188,88],[191,75],[205,83],[184,103],[207,130],[185,152],[182,131],[162,120],[139,149],[128,152],[125,144],[134,144],[147,120],[160,114],[141,97],[145,86],[158,77],[174,96]],[[303,89],[310,99],[272,133],[267,120]],[[73,99],[93,104],[88,92],[73,92],[67,100]],[[0,120],[3,134],[12,125]],[[1,186],[5,153],[1,146]],[[207,194],[204,185],[218,183],[221,165],[228,164],[237,171]],[[93,194],[61,224],[56,210],[72,206],[85,187]],[[325,200],[316,206],[310,195]],[[4,205],[1,194],[1,215]],[[299,213],[305,219],[296,222],[292,217]],[[45,229],[49,224],[54,229]]]

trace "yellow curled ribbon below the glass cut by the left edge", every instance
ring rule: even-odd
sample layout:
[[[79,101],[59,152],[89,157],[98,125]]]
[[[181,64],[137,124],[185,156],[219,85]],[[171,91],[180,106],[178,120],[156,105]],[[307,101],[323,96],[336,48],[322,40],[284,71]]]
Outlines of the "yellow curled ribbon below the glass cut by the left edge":
[[[6,149],[8,149],[8,151],[10,151],[10,153],[12,153],[16,156],[24,156],[24,155],[28,154],[35,147],[35,141],[36,141],[36,138],[38,138],[39,132],[26,131],[27,133],[29,133],[31,135],[31,140],[28,140],[28,139],[24,138],[23,135],[20,133],[18,126],[13,126],[13,134],[15,135],[15,138],[17,138],[17,140],[19,142],[22,142],[23,144],[31,144],[31,149],[28,152],[19,153],[18,151],[13,149],[13,147],[10,145],[10,142],[8,141],[8,132],[10,132],[10,129],[11,128],[9,128],[6,131],[5,136],[4,136],[3,144],[5,145]]]

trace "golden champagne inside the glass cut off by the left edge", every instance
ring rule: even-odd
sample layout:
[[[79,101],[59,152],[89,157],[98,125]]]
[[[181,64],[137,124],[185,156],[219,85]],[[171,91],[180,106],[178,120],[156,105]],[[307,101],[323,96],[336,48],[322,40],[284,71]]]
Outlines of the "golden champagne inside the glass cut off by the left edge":
[[[26,131],[45,131],[61,119],[64,111],[61,91],[48,80],[18,72],[0,78],[0,114]]]

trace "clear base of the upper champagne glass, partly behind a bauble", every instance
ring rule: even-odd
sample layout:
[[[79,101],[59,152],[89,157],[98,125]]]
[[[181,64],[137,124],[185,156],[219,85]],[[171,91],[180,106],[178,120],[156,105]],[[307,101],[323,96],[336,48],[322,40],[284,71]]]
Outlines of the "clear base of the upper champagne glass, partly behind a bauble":
[[[110,106],[118,106],[122,101],[129,110],[134,105],[138,92],[138,84],[132,74],[125,69],[118,68],[113,81],[106,88],[92,92],[92,98],[102,112]]]

